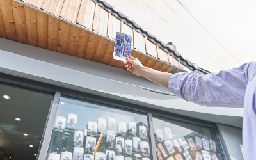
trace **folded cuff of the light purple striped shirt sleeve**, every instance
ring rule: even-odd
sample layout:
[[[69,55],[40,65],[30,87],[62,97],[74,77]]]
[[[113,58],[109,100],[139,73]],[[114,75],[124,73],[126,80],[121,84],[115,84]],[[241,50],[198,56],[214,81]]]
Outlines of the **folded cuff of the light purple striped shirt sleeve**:
[[[174,95],[186,100],[182,95],[182,83],[190,72],[172,74],[168,81],[168,90]],[[187,100],[188,101],[188,100]]]

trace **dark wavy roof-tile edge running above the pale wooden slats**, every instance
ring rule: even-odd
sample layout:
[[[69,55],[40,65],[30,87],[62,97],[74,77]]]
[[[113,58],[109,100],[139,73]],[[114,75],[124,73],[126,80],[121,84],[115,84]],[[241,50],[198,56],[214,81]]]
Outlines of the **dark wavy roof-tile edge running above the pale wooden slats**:
[[[115,8],[115,7],[111,6],[110,4],[106,3],[106,1],[104,1],[104,0],[93,0],[93,1],[97,4],[99,4],[100,6],[102,6],[102,8],[104,8],[105,10],[108,10],[108,12],[115,15],[115,17],[117,17],[118,19],[125,22],[125,24],[127,24],[131,28],[134,28],[136,31],[141,33],[143,36],[147,37],[149,40],[151,40],[152,42],[157,44],[159,47],[161,47],[161,49],[168,52],[173,57],[177,58],[177,60],[179,60],[180,63],[182,63],[183,65],[185,65],[189,69],[191,69],[191,70],[198,70],[199,69],[198,66],[195,63],[191,63],[191,61],[187,60],[184,56],[182,56],[179,52],[177,52],[176,47],[175,47],[175,45],[172,44],[172,42],[169,42],[168,44],[165,44],[159,38],[157,38],[156,36],[149,33],[147,31],[147,29],[143,28],[142,26],[140,26],[139,24],[134,22],[131,19],[131,17],[127,17],[123,13],[119,12],[117,8]]]

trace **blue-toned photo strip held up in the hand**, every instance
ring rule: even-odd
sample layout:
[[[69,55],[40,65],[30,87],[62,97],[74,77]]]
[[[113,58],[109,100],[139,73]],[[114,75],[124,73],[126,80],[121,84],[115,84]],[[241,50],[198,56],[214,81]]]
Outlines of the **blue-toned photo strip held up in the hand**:
[[[131,58],[131,49],[132,36],[116,32],[114,59],[124,61],[127,57]]]

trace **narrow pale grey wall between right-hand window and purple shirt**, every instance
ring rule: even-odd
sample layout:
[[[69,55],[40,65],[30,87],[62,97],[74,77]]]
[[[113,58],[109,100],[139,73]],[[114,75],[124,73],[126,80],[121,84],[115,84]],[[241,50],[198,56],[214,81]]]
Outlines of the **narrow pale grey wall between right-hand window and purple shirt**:
[[[226,147],[232,160],[242,160],[243,155],[239,145],[242,142],[242,129],[225,124],[217,124],[218,130],[226,143]]]

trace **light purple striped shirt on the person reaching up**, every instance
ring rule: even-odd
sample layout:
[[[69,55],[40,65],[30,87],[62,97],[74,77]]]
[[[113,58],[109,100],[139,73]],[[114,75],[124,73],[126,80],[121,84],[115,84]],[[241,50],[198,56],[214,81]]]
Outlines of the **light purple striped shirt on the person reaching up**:
[[[168,90],[203,106],[244,108],[244,159],[256,159],[256,62],[218,73],[172,74]]]

